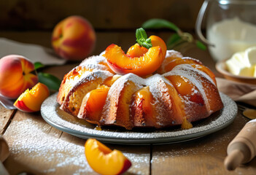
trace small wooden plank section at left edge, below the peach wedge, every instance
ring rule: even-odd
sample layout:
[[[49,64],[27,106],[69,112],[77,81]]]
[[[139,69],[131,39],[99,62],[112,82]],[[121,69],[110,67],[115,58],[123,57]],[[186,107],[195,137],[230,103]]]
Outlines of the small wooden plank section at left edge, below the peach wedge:
[[[7,129],[13,114],[15,114],[15,110],[5,109],[4,106],[0,104],[0,134],[3,134]]]

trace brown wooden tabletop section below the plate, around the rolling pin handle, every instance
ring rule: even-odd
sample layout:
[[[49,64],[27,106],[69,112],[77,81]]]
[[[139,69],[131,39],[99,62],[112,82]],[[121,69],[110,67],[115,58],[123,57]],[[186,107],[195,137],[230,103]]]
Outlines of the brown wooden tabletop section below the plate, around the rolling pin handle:
[[[235,171],[227,171],[223,166],[228,144],[247,122],[239,113],[230,126],[217,133],[179,144],[154,146],[152,175],[255,174],[256,159]]]

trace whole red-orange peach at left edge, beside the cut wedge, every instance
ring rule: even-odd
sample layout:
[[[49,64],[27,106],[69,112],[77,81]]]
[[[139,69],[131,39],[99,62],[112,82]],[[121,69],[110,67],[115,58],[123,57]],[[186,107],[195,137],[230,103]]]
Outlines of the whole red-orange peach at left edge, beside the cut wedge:
[[[0,94],[18,98],[38,82],[34,64],[21,55],[7,55],[0,59]]]

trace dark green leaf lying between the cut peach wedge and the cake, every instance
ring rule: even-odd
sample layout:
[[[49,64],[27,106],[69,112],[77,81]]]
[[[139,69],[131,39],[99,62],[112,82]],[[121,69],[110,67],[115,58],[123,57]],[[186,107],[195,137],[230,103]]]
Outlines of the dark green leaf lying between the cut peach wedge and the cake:
[[[53,76],[52,74],[39,72],[38,77],[39,82],[42,82],[44,85],[47,85],[47,87],[50,90],[58,91],[58,88],[60,88],[61,80]]]

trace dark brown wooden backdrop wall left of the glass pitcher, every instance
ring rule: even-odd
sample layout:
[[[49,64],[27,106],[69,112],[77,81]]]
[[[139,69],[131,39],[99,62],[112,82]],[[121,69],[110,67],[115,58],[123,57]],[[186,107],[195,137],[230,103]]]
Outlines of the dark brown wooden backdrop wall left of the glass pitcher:
[[[51,31],[70,15],[87,18],[96,31],[139,28],[151,18],[163,18],[193,30],[203,0],[9,0],[0,1],[1,30]]]

